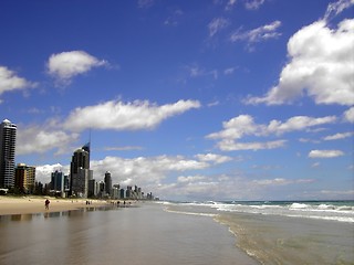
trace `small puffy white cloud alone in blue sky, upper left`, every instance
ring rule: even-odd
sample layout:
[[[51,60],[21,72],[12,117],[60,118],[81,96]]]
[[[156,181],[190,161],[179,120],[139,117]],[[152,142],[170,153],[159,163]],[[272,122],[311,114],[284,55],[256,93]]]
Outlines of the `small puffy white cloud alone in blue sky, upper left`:
[[[84,51],[71,51],[52,54],[46,67],[50,75],[54,76],[59,83],[66,85],[74,76],[104,65],[107,65],[107,62],[100,61]]]

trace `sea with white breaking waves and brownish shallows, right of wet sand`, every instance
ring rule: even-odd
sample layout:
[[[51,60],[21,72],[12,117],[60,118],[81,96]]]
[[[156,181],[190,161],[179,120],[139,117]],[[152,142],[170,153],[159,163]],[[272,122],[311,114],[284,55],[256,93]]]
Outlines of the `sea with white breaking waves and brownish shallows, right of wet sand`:
[[[261,264],[354,264],[354,202],[167,202],[180,214],[215,214]]]

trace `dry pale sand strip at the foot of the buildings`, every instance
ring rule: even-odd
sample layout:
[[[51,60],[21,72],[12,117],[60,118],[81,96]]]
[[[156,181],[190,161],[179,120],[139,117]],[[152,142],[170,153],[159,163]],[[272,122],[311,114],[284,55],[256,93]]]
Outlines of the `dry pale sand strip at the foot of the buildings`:
[[[44,206],[46,199],[50,200],[48,210]],[[90,202],[91,203],[87,205],[85,199],[72,200],[51,197],[0,197],[0,215],[61,212],[86,206],[102,206],[108,203],[104,200],[90,200]]]

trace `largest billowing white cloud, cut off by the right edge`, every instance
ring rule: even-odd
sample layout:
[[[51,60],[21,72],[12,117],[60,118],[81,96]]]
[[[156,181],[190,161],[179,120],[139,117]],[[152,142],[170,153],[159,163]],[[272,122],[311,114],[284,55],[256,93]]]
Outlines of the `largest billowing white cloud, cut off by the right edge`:
[[[279,105],[308,95],[316,104],[354,104],[354,20],[343,20],[337,30],[316,21],[298,31],[288,43],[290,62],[279,83],[263,97],[247,104]]]

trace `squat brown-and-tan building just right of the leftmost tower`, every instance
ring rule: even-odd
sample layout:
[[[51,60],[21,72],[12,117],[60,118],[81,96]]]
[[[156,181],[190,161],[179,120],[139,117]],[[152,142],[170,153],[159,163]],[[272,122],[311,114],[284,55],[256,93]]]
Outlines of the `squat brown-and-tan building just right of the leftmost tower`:
[[[35,181],[35,167],[18,163],[14,169],[14,187],[21,192],[33,193]]]

